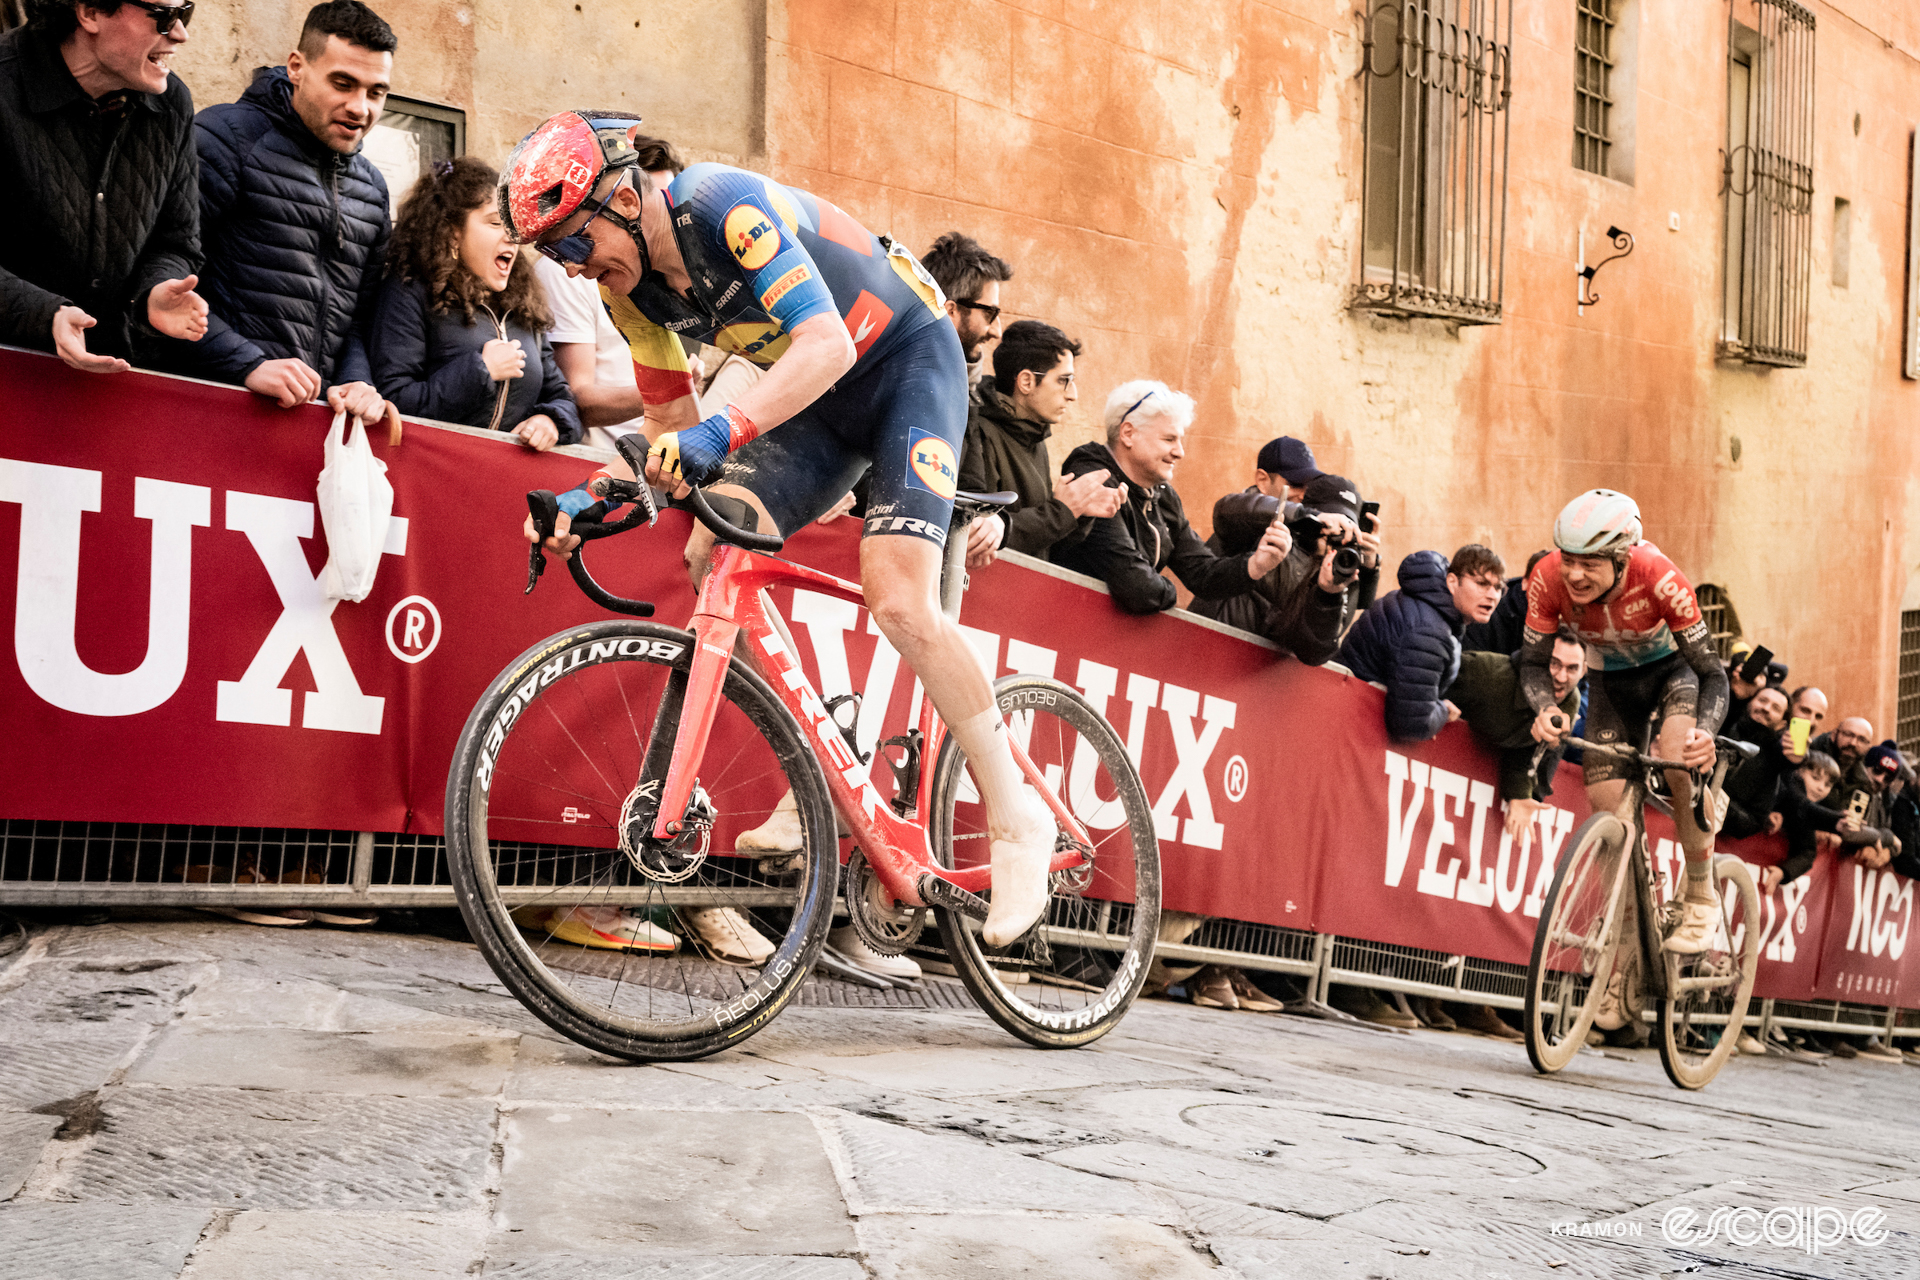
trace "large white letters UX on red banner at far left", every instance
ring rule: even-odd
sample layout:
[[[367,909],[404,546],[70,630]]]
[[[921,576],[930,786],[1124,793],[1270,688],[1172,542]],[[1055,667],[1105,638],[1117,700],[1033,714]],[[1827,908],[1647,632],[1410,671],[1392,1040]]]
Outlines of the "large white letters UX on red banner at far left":
[[[27,687],[81,716],[138,716],[186,677],[194,589],[194,530],[213,524],[213,489],[171,480],[134,480],[132,510],[154,526],[146,604],[146,656],[131,672],[88,668],[75,647],[81,593],[81,514],[100,510],[102,472],[0,459],[0,503],[19,503],[19,595],[13,652]],[[215,720],[292,725],[294,693],[280,681],[305,656],[313,691],[300,725],[338,733],[378,733],[386,699],[361,693],[334,633],[334,604],[321,595],[301,541],[313,537],[313,503],[227,489],[227,528],[244,533],[280,597],[280,618],[261,637],[240,679],[215,689]],[[407,520],[394,516],[386,555],[407,555]]]

